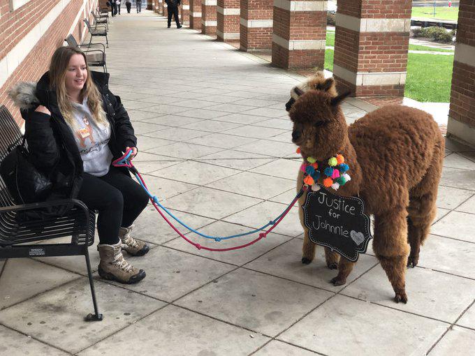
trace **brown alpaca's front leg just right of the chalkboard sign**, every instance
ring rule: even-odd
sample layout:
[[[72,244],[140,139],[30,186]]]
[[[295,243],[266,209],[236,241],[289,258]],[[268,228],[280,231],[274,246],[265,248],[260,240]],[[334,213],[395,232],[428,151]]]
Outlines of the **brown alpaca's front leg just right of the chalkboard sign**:
[[[395,302],[407,303],[405,273],[409,245],[405,208],[374,216],[373,249],[393,285]]]

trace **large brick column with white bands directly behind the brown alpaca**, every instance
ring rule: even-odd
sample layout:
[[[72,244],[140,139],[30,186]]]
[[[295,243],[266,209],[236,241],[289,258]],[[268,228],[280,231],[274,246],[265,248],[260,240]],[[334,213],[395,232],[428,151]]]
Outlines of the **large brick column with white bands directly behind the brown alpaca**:
[[[404,96],[412,1],[339,0],[333,75],[356,96]]]

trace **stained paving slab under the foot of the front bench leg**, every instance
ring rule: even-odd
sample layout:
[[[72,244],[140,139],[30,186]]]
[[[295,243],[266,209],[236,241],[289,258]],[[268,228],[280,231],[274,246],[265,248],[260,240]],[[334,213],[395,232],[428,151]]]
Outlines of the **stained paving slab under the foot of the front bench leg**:
[[[165,304],[124,288],[96,281],[101,322],[84,322],[93,311],[89,282],[73,281],[0,311],[0,323],[70,353],[147,316]]]

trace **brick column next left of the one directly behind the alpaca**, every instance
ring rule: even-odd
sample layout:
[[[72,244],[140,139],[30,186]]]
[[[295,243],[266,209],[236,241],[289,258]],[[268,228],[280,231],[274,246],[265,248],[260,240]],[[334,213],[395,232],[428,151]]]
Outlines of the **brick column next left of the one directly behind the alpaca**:
[[[323,69],[327,1],[275,0],[272,65]]]

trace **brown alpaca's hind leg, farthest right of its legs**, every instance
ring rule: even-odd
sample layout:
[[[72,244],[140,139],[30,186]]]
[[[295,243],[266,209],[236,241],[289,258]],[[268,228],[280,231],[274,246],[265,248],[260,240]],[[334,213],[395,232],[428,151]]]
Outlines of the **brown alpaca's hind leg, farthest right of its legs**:
[[[416,267],[419,261],[421,244],[429,235],[430,225],[437,214],[437,188],[444,160],[444,149],[437,147],[434,158],[423,179],[409,192],[407,213],[407,239],[411,245],[411,253],[407,259],[408,267]]]

